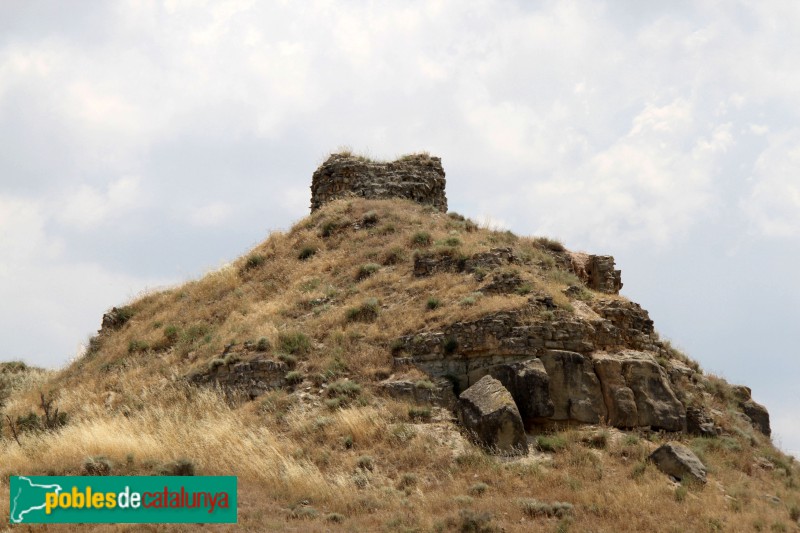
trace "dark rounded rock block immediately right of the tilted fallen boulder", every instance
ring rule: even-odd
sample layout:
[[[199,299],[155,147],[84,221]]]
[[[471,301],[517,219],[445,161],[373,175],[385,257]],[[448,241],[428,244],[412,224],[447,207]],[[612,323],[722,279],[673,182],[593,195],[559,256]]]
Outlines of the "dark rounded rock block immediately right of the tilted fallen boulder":
[[[553,416],[555,409],[550,399],[550,377],[541,359],[499,365],[490,373],[511,393],[526,426]]]

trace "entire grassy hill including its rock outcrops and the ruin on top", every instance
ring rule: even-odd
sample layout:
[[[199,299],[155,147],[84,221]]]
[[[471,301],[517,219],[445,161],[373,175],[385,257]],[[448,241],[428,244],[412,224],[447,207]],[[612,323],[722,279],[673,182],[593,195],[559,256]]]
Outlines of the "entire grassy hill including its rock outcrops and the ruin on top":
[[[312,186],[310,216],[112,309],[63,370],[0,367],[3,483],[233,474],[252,531],[798,528],[766,409],[660,339],[613,258],[447,213],[428,155],[335,155]],[[657,467],[668,443],[707,480]]]

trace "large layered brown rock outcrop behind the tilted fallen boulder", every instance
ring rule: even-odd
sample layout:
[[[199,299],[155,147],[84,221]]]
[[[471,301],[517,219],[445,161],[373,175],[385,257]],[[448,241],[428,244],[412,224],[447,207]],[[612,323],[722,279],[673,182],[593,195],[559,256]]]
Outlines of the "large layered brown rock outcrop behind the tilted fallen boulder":
[[[668,351],[646,311],[623,300],[595,300],[587,308],[591,316],[542,319],[549,307],[532,297],[519,311],[401,337],[395,364],[447,376],[462,390],[491,374],[511,391],[529,427],[606,420],[618,428],[686,430],[686,409],[659,363]],[[537,370],[523,372],[526,365]],[[548,402],[552,412],[544,407]]]

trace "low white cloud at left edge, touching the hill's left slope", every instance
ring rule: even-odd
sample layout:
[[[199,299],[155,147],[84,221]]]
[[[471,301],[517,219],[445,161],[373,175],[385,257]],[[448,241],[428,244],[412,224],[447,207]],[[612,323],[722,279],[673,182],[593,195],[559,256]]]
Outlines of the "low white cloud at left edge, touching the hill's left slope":
[[[112,187],[108,197],[123,193]],[[0,196],[0,324],[9,332],[0,358],[55,366],[97,328],[105,309],[169,280],[68,261],[64,243],[47,233],[45,206]]]

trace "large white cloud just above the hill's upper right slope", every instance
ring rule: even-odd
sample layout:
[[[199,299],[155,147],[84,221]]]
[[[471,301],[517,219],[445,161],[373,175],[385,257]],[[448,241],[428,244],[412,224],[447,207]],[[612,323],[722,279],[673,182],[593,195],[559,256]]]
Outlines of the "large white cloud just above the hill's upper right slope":
[[[698,133],[695,113],[684,100],[647,105],[607,149],[531,184],[538,232],[619,247],[663,246],[691,229],[716,206],[718,158],[733,143],[730,124]]]

